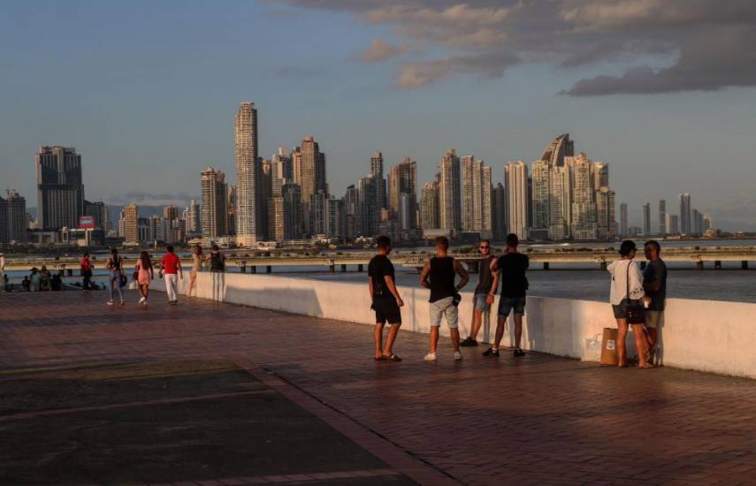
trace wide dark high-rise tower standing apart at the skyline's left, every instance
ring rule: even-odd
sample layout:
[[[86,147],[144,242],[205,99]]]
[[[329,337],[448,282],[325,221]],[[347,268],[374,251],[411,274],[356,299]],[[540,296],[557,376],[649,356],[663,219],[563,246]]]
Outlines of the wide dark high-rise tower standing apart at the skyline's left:
[[[78,227],[79,216],[84,214],[84,183],[76,148],[40,147],[35,171],[40,229]]]

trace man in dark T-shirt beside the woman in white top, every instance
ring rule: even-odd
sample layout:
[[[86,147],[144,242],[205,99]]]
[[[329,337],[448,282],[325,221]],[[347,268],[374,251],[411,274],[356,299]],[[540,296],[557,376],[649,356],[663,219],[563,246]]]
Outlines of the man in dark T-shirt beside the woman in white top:
[[[665,300],[667,300],[667,265],[661,260],[661,245],[651,239],[643,246],[648,265],[643,272],[643,290],[651,298],[651,305],[645,311],[645,330],[647,333],[649,361],[656,353],[659,339],[659,325],[664,315]]]

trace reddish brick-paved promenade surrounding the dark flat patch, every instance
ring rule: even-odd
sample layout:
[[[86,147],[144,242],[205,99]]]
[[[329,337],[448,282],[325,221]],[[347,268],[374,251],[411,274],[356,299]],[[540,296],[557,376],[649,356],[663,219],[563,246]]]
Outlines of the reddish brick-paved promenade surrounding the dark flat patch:
[[[756,381],[536,353],[496,361],[478,348],[454,362],[443,338],[439,361],[426,363],[427,337],[409,332],[395,348],[403,362],[376,363],[362,324],[185,298],[171,308],[161,293],[149,308],[134,294],[107,308],[104,297],[0,293],[0,379],[74,364],[235,362],[384,461],[360,474],[386,481],[756,484]],[[203,386],[210,399],[228,392]],[[45,416],[23,412],[4,409],[0,427]]]

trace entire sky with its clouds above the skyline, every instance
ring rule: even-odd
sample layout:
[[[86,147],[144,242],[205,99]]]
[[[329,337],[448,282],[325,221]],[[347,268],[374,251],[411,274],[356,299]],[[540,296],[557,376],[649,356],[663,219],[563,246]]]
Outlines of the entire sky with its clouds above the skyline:
[[[688,192],[756,231],[753,45],[751,0],[10,0],[0,189],[35,206],[34,154],[63,145],[90,201],[185,204],[208,165],[233,182],[251,101],[260,155],[314,135],[336,195],[377,151],[421,185],[448,148],[500,181],[570,133],[630,224]]]

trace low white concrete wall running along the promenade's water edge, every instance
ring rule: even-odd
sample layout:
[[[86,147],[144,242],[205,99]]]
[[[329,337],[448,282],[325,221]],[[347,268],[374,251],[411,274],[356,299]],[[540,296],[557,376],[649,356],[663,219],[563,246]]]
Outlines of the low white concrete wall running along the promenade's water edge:
[[[179,281],[186,293],[188,275]],[[306,278],[200,273],[197,297],[256,308],[282,310],[353,323],[372,324],[367,274],[365,284],[326,282]],[[164,290],[162,281],[153,286]],[[428,296],[423,288],[399,287],[405,307],[402,329],[429,331]],[[492,319],[485,323],[482,338],[493,339]],[[462,292],[460,332],[468,335],[472,293]],[[525,309],[523,347],[532,351],[599,361],[601,334],[615,327],[608,303],[529,296]],[[756,304],[714,300],[668,299],[661,339],[665,366],[695,369],[723,375],[756,378]],[[441,334],[448,335],[446,324]],[[511,339],[511,336],[509,337]],[[505,338],[506,340],[507,338]],[[632,349],[629,339],[629,350]]]

